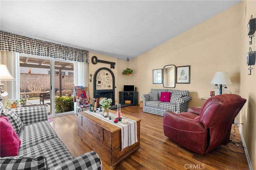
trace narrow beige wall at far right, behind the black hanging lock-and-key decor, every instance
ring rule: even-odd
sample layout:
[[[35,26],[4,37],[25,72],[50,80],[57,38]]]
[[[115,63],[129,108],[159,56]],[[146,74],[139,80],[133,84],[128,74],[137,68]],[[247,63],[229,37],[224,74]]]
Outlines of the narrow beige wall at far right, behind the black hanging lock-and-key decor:
[[[252,75],[249,74],[249,66],[246,65],[246,53],[249,48],[252,51],[256,50],[256,40],[252,38],[252,45],[249,44],[250,38],[247,35],[247,24],[251,15],[256,18],[256,1],[242,1],[241,2],[241,18],[242,24],[242,41],[241,41],[241,56],[240,56],[240,94],[246,98],[246,104],[239,114],[239,121],[243,122],[242,134],[246,143],[246,147],[252,162],[253,169],[256,169],[256,68],[252,66]]]

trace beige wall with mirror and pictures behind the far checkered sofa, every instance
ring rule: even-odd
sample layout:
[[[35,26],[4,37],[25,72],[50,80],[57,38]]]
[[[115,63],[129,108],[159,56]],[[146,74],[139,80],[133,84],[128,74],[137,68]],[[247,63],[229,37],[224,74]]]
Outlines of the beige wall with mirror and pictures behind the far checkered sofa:
[[[163,88],[152,84],[152,69],[166,64],[191,66],[190,84],[176,84],[175,89],[189,90],[190,106],[201,106],[201,97],[209,96],[214,84],[210,84],[216,71],[226,71],[232,85],[228,88],[239,94],[241,26],[240,4],[196,25],[169,41],[132,60],[136,65],[138,91],[147,94],[151,88]]]

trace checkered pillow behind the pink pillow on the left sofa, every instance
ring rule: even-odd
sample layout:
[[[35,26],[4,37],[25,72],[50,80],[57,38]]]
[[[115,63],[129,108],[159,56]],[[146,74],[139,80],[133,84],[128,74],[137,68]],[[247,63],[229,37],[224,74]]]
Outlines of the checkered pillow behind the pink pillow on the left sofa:
[[[8,117],[16,133],[19,133],[23,129],[23,122],[20,120],[20,117],[14,110],[8,109],[5,112],[1,113],[1,115]]]

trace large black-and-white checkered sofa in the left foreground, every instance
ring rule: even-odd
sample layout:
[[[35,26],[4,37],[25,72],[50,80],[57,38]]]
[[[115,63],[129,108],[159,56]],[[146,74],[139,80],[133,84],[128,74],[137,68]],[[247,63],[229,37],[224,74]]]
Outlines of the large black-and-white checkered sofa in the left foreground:
[[[94,151],[72,157],[48,122],[46,106],[14,110],[24,125],[17,133],[21,145],[18,156],[0,158],[1,170],[102,170],[102,162]]]

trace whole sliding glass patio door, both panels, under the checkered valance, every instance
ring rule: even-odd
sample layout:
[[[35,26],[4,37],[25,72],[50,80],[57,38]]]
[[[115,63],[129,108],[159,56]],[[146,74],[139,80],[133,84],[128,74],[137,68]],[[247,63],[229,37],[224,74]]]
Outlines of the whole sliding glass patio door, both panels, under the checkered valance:
[[[22,107],[45,105],[48,116],[74,110],[73,63],[20,55],[20,99]],[[73,106],[67,110],[64,106]]]

